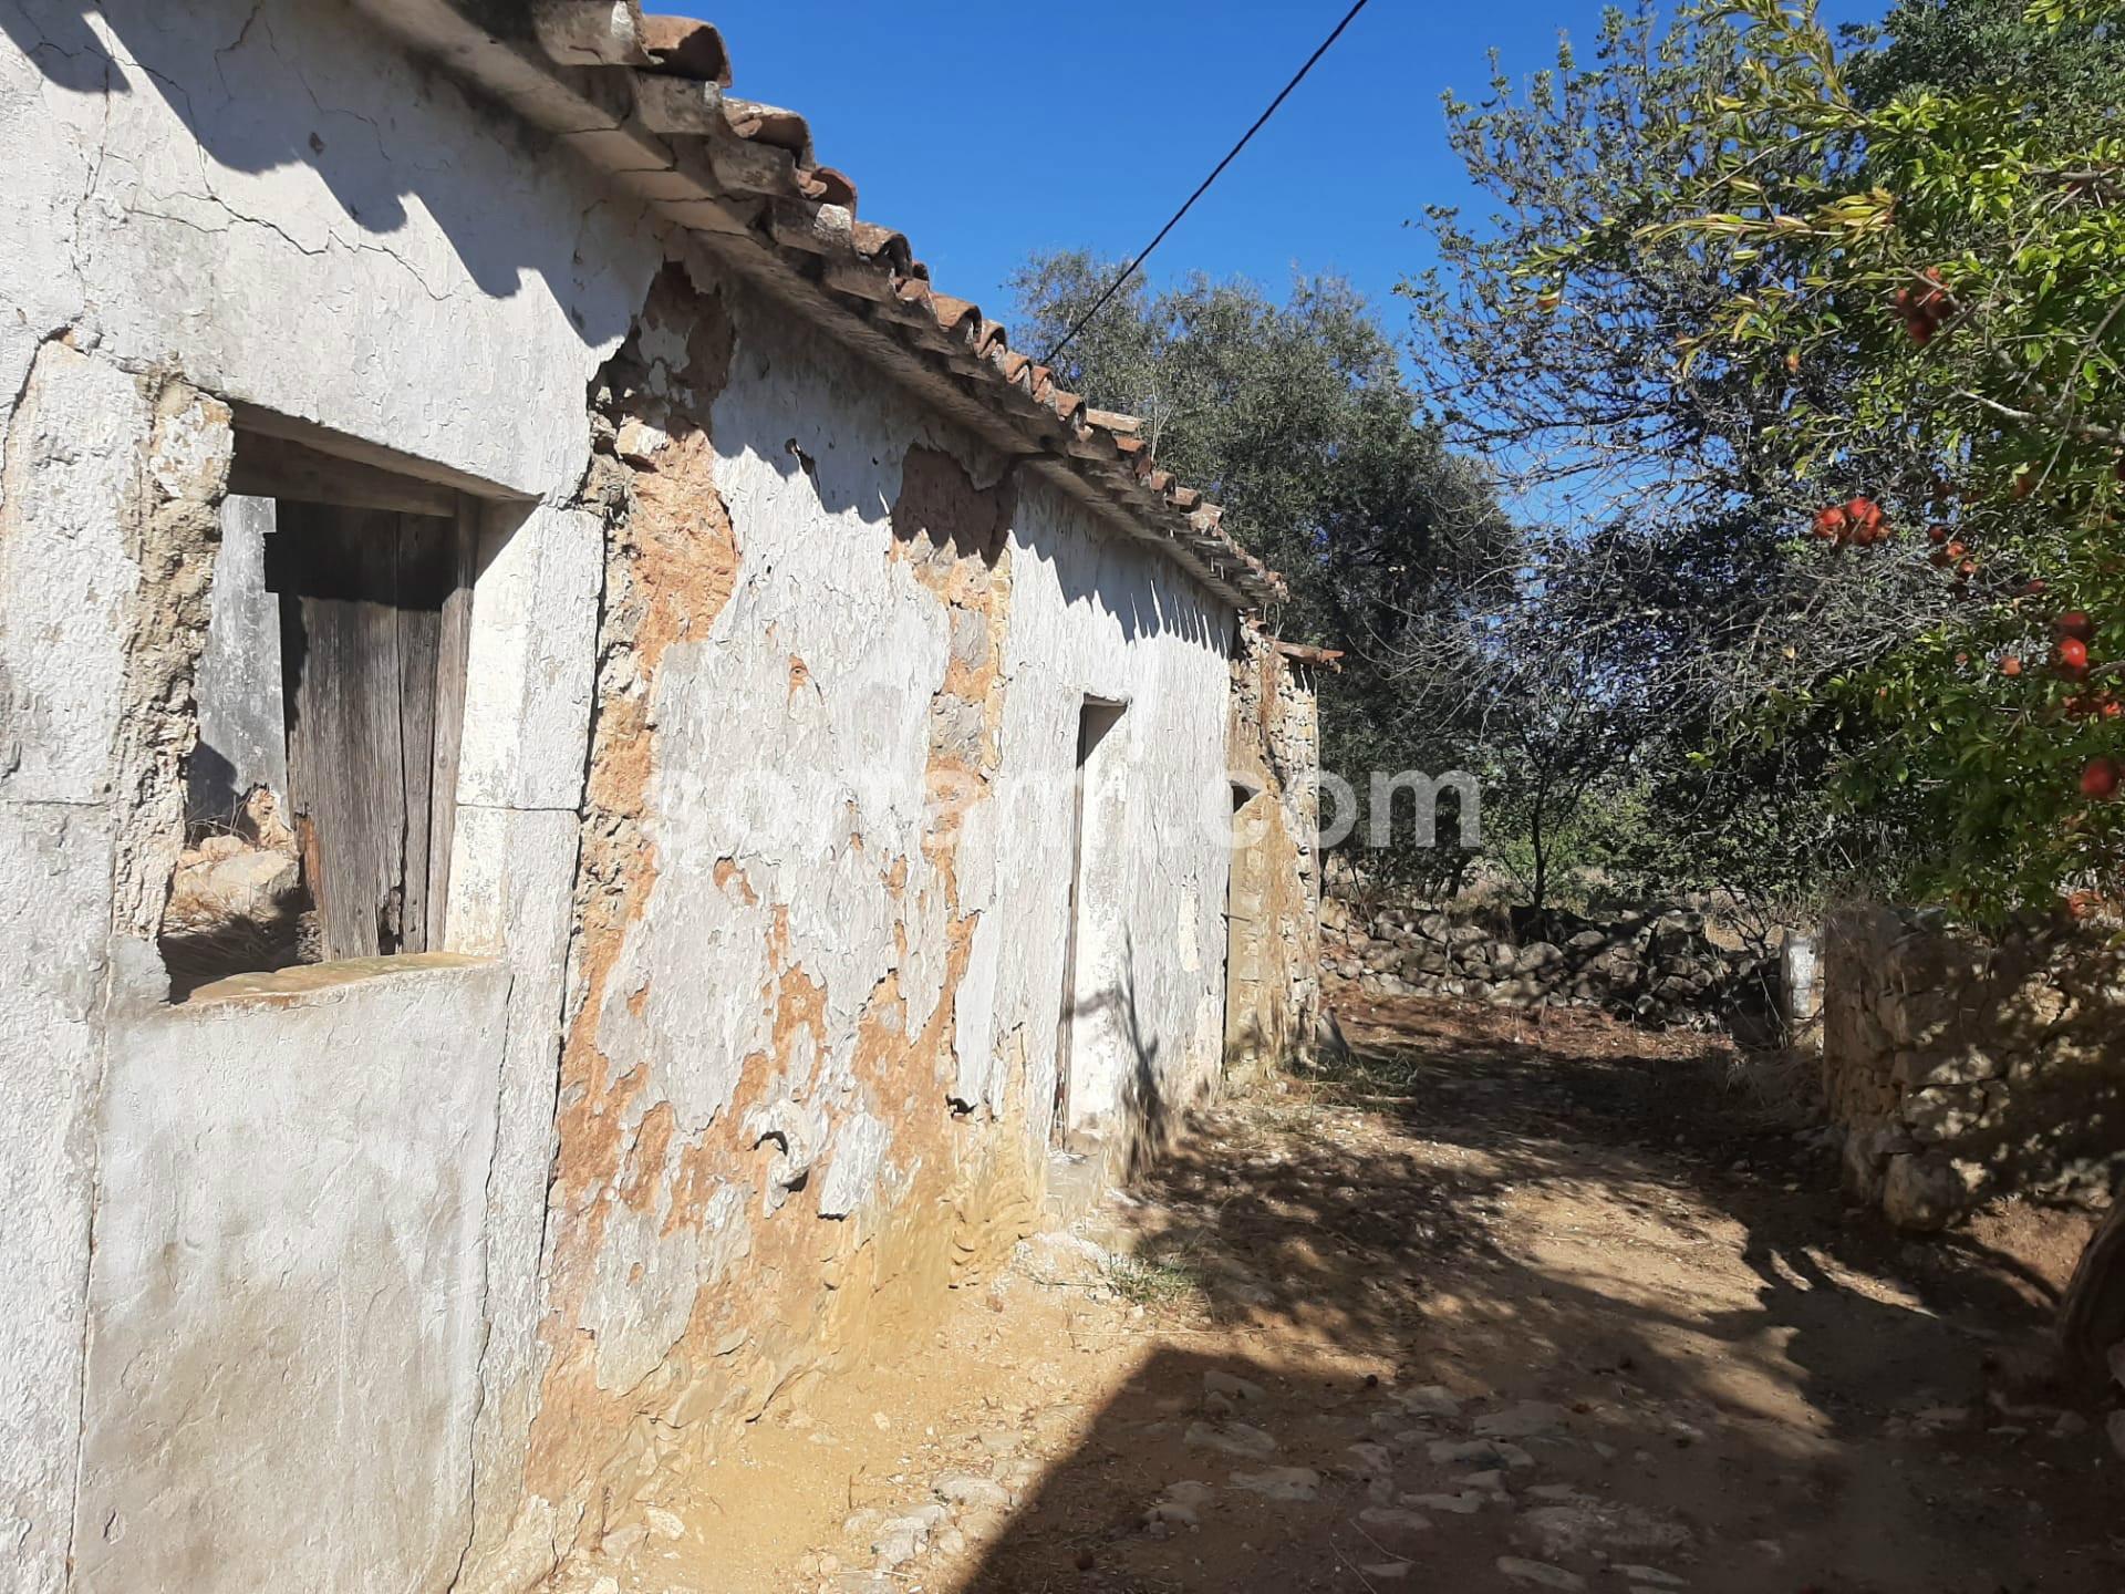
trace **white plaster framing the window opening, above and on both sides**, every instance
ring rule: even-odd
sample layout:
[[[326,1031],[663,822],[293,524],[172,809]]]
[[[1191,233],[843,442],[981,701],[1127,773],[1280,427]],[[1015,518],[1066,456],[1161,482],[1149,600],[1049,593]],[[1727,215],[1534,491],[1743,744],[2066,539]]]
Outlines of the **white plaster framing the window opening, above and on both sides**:
[[[81,1401],[87,1114],[106,1052],[117,648],[138,587],[123,538],[149,423],[136,378],[174,370],[221,397],[561,502],[589,457],[586,385],[659,251],[638,206],[400,55],[338,0],[4,4],[0,149],[0,857],[15,878],[42,882],[34,918],[0,916],[0,1180],[11,1190],[0,1562],[11,1588],[55,1590]],[[536,1386],[601,574],[589,516],[533,506],[502,516],[508,536],[495,536],[474,604],[453,891],[453,939],[506,942],[516,976],[504,1067],[487,1078],[487,1116],[502,1129],[487,1211],[495,1267],[482,1277],[493,1290],[482,1520],[489,1500],[504,1517],[514,1503]],[[236,595],[230,582],[217,601],[227,610]],[[206,676],[212,689],[212,663]],[[110,948],[153,971],[142,944]],[[274,1067],[314,1061],[306,1020],[259,1024],[259,1056]],[[361,1050],[344,1033],[338,1044]],[[376,1044],[389,1050],[395,1037]],[[108,1039],[110,1067],[138,1067],[132,1046],[130,1033]],[[106,1190],[104,1209],[132,1222],[125,1201],[138,1199],[132,1190],[110,1207]],[[327,1248],[323,1228],[317,1245]],[[172,1324],[178,1337],[193,1328],[206,1320]],[[465,1392],[476,1388],[468,1367],[457,1373]],[[404,1415],[395,1388],[374,1381],[380,1422]],[[168,1481],[174,1503],[198,1479]],[[400,1494],[404,1479],[368,1481],[389,1488],[387,1500],[419,1498]],[[346,1498],[346,1483],[329,1494]],[[438,1520],[455,1522],[463,1549],[453,1511],[444,1503]],[[274,1558],[227,1564],[283,1571]]]

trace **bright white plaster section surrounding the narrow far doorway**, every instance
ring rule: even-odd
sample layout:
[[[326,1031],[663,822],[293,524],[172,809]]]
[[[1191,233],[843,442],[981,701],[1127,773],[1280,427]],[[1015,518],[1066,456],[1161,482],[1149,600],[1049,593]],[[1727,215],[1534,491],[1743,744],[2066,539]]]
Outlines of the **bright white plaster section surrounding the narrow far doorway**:
[[[975,939],[988,997],[988,1078],[1005,1088],[1005,1037],[1024,1027],[1026,1099],[1054,1099],[1069,903],[1077,716],[1124,703],[1092,757],[1084,814],[1084,933],[1073,1029],[1082,1069],[1071,1129],[1111,1126],[1137,1080],[1171,1112],[1216,1080],[1224,1003],[1230,797],[1224,723],[1232,612],[1060,489],[1026,480],[1012,531],[1005,644],[997,933]],[[986,925],[984,925],[986,929]],[[1090,1020],[1090,1022],[1088,1022]],[[1090,1031],[1090,1033],[1086,1033]],[[980,1044],[960,1024],[960,1046]],[[963,1071],[982,1058],[963,1054]]]

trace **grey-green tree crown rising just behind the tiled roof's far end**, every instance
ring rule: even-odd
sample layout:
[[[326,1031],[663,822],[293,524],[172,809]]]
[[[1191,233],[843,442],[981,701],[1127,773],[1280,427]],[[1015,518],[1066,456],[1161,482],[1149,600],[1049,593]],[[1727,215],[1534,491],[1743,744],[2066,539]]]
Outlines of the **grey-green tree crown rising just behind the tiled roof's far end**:
[[[1082,251],[1033,257],[1014,278],[1026,342],[1058,342],[1118,272]],[[1522,578],[1522,533],[1488,472],[1424,421],[1398,349],[1347,283],[1300,276],[1279,304],[1245,281],[1130,281],[1056,378],[1143,417],[1158,463],[1218,499],[1226,529],[1288,578],[1277,631],[1347,655],[1322,689],[1322,742],[1360,801],[1362,771],[1443,774],[1477,757],[1470,718],[1411,699],[1405,652],[1413,627],[1432,627],[1460,638],[1468,665],[1481,616]]]

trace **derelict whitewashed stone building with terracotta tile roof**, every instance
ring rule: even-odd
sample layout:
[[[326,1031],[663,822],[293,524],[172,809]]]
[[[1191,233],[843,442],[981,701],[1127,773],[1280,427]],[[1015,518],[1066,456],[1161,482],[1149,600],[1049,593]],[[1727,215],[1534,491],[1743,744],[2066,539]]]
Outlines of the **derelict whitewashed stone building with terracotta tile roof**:
[[[1309,1035],[1277,578],[729,83],[0,6],[11,1590],[531,1588]]]

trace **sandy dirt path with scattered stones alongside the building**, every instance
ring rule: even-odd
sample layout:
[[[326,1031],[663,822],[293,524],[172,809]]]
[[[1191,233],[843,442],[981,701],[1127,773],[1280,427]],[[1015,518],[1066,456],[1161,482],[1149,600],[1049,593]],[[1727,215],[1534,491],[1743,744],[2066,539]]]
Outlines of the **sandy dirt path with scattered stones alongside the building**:
[[[2010,1377],[2059,1258],[1849,1222],[1694,1044],[1349,1020],[1356,1078],[754,1424],[606,1594],[2125,1590],[2125,1471]]]

